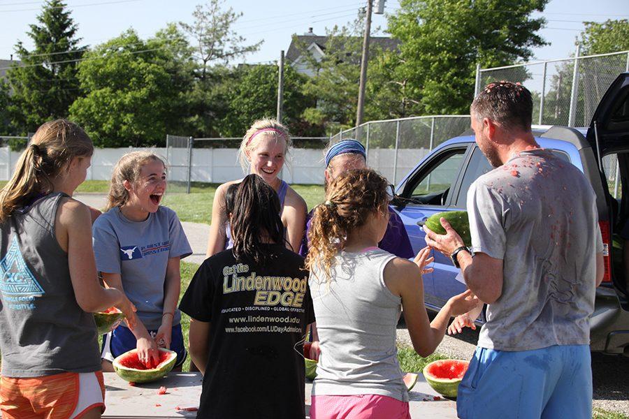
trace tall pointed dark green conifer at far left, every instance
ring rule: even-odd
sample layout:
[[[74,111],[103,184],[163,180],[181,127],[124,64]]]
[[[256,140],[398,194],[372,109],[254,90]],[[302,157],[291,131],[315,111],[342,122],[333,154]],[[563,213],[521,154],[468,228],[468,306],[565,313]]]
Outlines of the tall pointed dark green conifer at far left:
[[[15,52],[22,64],[8,71],[8,112],[20,133],[34,132],[48,119],[67,117],[68,108],[80,96],[76,66],[83,50],[66,3],[45,1],[37,22],[27,32],[34,50],[17,41]]]

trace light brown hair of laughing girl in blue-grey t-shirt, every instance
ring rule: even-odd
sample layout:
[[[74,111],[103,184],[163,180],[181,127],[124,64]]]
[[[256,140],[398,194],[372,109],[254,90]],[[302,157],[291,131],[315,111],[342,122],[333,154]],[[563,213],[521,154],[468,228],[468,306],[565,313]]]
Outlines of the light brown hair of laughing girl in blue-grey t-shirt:
[[[111,174],[111,184],[107,196],[106,211],[122,207],[129,200],[129,191],[124,188],[124,181],[133,183],[140,178],[140,170],[145,163],[160,161],[166,170],[166,161],[152,152],[131,152],[120,157]]]

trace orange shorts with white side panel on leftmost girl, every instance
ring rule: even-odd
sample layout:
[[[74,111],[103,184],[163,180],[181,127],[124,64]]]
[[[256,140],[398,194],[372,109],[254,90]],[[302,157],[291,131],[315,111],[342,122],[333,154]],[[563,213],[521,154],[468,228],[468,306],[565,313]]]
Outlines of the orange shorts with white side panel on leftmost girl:
[[[103,372],[64,372],[35,378],[0,377],[2,419],[73,419],[105,410]]]

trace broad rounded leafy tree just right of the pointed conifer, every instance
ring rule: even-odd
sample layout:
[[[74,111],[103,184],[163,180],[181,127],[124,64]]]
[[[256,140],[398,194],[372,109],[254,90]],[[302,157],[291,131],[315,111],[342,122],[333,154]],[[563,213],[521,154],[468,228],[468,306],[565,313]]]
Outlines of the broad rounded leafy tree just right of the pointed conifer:
[[[95,145],[163,145],[167,133],[181,131],[187,54],[169,30],[143,41],[130,29],[85,54],[78,76],[87,94],[70,112]]]

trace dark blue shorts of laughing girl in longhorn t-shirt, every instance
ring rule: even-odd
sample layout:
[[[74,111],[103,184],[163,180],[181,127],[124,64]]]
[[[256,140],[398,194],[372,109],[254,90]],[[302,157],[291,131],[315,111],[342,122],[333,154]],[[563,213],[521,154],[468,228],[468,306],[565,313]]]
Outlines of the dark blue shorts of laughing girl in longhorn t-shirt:
[[[151,336],[157,335],[157,330],[148,331]],[[101,358],[110,362],[123,353],[135,349],[138,345],[136,336],[129,328],[124,326],[118,326],[112,332],[107,335],[103,335],[103,346],[101,348]],[[171,351],[177,353],[177,362],[175,367],[183,365],[188,355],[186,348],[183,344],[183,334],[181,332],[181,325],[174,325],[171,335]]]

